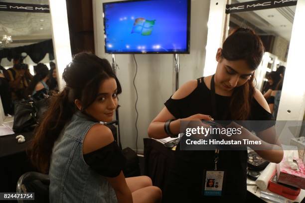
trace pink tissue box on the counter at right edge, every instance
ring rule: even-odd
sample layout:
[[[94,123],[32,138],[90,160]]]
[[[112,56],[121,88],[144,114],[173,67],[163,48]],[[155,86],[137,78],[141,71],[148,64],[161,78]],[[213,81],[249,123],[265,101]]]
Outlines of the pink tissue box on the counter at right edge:
[[[284,158],[281,163],[277,164],[277,177],[279,183],[305,189],[305,166],[301,159],[288,161]]]

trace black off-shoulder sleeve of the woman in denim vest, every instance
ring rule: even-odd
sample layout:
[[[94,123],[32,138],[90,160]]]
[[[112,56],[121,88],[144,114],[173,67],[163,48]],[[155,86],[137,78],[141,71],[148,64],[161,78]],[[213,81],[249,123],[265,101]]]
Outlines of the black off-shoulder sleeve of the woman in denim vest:
[[[105,177],[117,177],[126,164],[126,158],[115,141],[83,156],[94,171]]]

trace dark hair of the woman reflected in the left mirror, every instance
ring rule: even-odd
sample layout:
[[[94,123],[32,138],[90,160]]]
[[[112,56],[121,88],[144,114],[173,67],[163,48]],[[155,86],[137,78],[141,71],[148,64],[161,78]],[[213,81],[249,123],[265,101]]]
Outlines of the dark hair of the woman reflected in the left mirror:
[[[33,77],[30,84],[28,85],[28,87],[25,90],[25,98],[28,95],[32,95],[37,83],[39,83],[42,79],[44,79],[45,77],[48,76],[49,69],[43,63],[38,63],[37,66],[35,67],[35,72],[36,72],[36,75]]]

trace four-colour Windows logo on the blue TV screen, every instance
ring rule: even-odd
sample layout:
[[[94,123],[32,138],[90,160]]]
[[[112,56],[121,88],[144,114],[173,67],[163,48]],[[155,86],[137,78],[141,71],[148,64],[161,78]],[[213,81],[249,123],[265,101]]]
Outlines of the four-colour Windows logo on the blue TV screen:
[[[154,21],[155,20],[146,20],[143,17],[136,18],[132,33],[140,33],[144,36],[151,35]]]

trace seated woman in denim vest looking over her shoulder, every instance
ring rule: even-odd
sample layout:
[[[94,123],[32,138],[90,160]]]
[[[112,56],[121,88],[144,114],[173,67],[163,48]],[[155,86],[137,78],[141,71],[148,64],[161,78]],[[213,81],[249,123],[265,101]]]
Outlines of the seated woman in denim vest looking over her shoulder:
[[[111,130],[121,85],[110,63],[79,53],[63,73],[66,87],[51,97],[30,156],[50,176],[51,203],[157,203],[149,177],[126,178],[125,157]],[[102,121],[102,122],[101,122]]]

